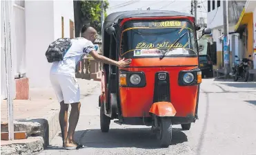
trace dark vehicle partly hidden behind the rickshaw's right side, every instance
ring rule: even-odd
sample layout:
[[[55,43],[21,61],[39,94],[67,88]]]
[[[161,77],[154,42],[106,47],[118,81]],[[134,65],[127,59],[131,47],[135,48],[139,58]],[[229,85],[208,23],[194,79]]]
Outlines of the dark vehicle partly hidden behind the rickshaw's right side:
[[[199,55],[199,65],[203,77],[206,75],[207,78],[213,78],[213,62],[209,55]]]

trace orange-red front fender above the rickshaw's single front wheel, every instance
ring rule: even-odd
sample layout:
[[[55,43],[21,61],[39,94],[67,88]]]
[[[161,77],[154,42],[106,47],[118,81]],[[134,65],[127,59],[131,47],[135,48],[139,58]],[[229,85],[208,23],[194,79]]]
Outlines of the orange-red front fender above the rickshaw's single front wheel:
[[[175,116],[176,114],[175,107],[171,102],[155,102],[149,112],[159,117]]]

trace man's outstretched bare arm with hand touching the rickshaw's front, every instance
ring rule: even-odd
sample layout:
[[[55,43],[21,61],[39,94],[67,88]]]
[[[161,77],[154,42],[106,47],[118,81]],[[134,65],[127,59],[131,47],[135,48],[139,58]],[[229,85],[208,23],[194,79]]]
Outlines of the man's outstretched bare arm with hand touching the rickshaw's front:
[[[110,60],[108,57],[104,57],[102,55],[99,55],[95,50],[90,51],[90,55],[92,55],[92,57],[99,61],[99,62],[103,62],[104,64],[112,64],[118,67],[124,67],[124,66],[129,66],[130,63],[132,62],[132,60],[120,60],[119,62],[115,61],[115,60]]]

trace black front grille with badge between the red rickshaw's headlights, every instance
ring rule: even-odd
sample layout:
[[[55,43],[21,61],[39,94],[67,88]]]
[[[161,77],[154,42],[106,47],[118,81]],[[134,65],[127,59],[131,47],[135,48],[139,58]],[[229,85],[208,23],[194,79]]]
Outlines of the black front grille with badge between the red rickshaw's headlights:
[[[155,74],[155,89],[153,102],[170,102],[170,78],[167,72]]]

